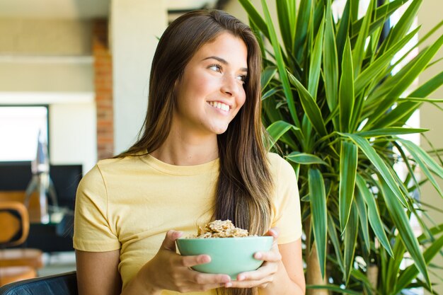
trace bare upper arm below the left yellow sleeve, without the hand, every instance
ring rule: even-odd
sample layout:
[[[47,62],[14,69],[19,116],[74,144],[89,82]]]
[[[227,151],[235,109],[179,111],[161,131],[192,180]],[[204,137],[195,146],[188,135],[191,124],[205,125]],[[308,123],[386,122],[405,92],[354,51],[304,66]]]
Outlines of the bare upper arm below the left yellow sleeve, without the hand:
[[[118,272],[120,250],[86,252],[76,250],[79,295],[117,295],[122,290]]]

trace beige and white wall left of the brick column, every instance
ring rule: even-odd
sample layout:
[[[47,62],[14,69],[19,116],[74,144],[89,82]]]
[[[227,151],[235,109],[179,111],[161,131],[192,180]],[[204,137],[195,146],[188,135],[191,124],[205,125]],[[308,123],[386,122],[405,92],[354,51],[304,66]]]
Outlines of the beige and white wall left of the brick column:
[[[50,105],[50,161],[96,162],[91,21],[0,18],[0,105]]]

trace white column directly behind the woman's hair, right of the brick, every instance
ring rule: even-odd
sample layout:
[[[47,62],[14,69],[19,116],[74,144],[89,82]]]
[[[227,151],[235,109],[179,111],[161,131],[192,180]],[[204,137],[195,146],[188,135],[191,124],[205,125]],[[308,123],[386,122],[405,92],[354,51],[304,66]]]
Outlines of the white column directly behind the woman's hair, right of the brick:
[[[115,154],[129,148],[142,127],[148,103],[149,71],[157,38],[168,23],[164,0],[111,3]]]

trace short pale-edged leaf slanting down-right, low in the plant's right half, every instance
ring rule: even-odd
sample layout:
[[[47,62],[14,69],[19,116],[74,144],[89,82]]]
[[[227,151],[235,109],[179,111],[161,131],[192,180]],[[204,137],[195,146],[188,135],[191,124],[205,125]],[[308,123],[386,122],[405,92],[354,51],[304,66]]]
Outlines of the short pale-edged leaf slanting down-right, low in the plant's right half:
[[[371,225],[376,237],[379,238],[381,245],[383,245],[383,247],[386,249],[386,252],[393,257],[391,244],[389,243],[388,237],[384,231],[384,226],[381,222],[379,209],[377,208],[374,195],[372,195],[367,188],[362,175],[357,174],[356,180],[359,194],[362,195],[364,202],[367,204],[369,224]]]

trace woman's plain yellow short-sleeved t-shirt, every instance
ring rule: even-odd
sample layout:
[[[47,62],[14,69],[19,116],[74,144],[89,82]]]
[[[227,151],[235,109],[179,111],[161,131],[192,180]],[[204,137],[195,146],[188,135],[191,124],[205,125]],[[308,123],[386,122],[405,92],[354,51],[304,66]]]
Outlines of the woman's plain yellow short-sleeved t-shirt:
[[[269,154],[269,159],[275,180],[272,226],[280,229],[278,243],[289,243],[301,236],[297,180],[283,158]],[[209,222],[218,173],[218,159],[196,166],[173,166],[149,155],[99,161],[77,190],[74,248],[120,249],[119,272],[125,288],[154,258],[168,230],[195,234],[197,224]],[[179,293],[162,292],[172,294]]]

